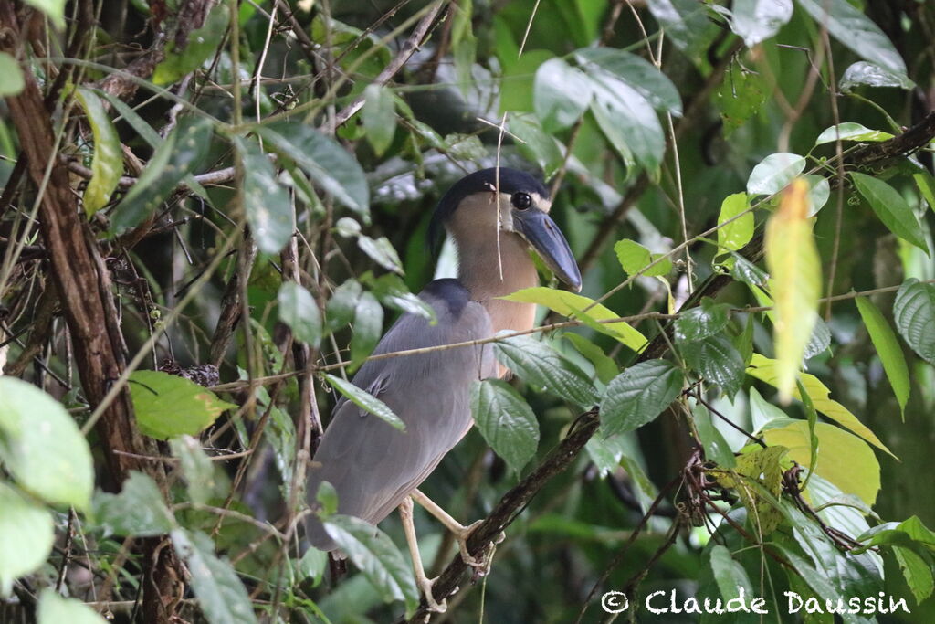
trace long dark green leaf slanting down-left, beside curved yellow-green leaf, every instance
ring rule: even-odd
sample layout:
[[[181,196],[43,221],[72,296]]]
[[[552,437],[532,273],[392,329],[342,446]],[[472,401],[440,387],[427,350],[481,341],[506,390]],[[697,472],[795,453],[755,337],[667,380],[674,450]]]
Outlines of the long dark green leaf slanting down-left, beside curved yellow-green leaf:
[[[110,231],[120,235],[136,227],[158,208],[207,155],[212,123],[184,117],[152,154],[137,183],[110,213]]]

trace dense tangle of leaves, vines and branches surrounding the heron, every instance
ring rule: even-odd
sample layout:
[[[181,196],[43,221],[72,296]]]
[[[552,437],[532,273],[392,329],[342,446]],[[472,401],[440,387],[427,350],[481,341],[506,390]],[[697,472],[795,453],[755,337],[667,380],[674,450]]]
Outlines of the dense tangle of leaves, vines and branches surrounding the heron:
[[[424,616],[396,515],[306,551],[303,477],[338,394],[393,417],[346,380],[502,164],[583,292],[516,296],[561,327],[496,341],[424,484],[492,557],[417,513],[433,619],[931,621],[933,40],[924,0],[0,0],[0,619]]]

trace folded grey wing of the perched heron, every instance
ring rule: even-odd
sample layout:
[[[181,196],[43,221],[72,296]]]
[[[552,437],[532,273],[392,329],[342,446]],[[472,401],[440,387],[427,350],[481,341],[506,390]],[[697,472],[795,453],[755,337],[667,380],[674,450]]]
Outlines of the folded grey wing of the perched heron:
[[[406,314],[387,332],[375,354],[488,338],[490,316],[479,303],[450,309],[444,300],[423,298],[436,309],[438,324]],[[496,375],[490,344],[367,362],[353,384],[385,402],[406,424],[392,428],[348,400],[332,421],[309,472],[307,493],[314,507],[318,486],[338,493],[338,513],[380,522],[435,469],[471,427],[470,388]],[[317,518],[309,538],[319,548],[335,546]]]

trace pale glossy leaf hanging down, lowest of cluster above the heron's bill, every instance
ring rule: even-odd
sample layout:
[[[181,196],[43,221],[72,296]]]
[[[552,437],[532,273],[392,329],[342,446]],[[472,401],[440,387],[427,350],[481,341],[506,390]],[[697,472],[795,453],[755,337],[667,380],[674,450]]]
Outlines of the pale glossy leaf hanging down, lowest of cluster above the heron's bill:
[[[598,125],[626,162],[626,152],[641,167],[654,171],[662,162],[666,141],[653,106],[639,91],[609,72],[585,68],[594,88],[591,110]]]

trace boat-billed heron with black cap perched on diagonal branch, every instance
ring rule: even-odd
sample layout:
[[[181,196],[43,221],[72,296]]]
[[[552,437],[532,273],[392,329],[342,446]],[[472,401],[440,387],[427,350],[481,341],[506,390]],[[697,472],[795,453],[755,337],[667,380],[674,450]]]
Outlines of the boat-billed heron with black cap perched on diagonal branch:
[[[458,256],[458,278],[436,280],[419,294],[436,312],[437,323],[404,314],[374,354],[475,341],[503,329],[535,324],[534,304],[498,297],[539,283],[529,248],[555,275],[575,290],[581,273],[568,242],[549,217],[548,191],[532,176],[500,167],[477,171],[456,182],[442,197],[432,219],[438,239],[447,229]],[[415,546],[412,500],[452,530],[462,557],[472,564],[464,527],[428,501],[416,488],[473,424],[470,390],[478,380],[506,374],[490,344],[441,349],[421,355],[367,361],[352,383],[381,399],[406,424],[405,431],[340,399],[312,461],[307,492],[316,507],[323,481],[338,494],[338,513],[372,524],[400,509],[417,582],[435,609],[431,582]],[[336,544],[321,520],[309,516],[311,544],[332,550]]]

